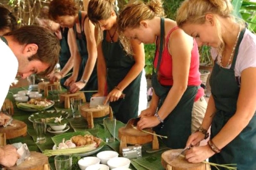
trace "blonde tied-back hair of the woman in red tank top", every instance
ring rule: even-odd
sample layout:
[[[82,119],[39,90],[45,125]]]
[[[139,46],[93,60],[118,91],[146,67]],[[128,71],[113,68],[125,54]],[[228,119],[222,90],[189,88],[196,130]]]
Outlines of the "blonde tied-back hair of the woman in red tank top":
[[[127,28],[135,29],[139,27],[140,21],[150,20],[155,16],[165,17],[161,0],[152,0],[146,4],[143,1],[135,1],[132,4],[127,4],[124,9],[121,10],[118,17],[118,33],[124,50],[126,50],[127,53],[131,54],[132,48],[129,38],[126,38],[123,32]]]

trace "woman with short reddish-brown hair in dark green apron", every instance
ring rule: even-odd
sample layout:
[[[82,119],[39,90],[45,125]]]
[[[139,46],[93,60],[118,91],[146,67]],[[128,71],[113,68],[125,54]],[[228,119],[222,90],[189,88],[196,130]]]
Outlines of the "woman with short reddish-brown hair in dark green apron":
[[[97,60],[94,25],[88,19],[87,12],[79,11],[72,0],[54,0],[49,5],[49,15],[60,26],[69,28],[68,38],[71,39],[71,44],[76,44],[76,48],[73,49],[73,74],[65,81],[65,86],[68,86],[72,93],[81,89],[98,89],[97,73],[94,68]],[[76,81],[79,77],[80,80]],[[90,101],[91,95],[92,92],[85,93],[87,101]]]

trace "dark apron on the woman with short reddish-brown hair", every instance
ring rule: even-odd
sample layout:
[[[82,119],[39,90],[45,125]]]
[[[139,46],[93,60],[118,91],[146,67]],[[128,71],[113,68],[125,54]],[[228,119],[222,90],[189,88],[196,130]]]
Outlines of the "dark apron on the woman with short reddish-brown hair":
[[[79,50],[80,56],[82,58],[80,67],[79,67],[79,75],[77,80],[80,80],[84,70],[85,70],[85,65],[88,60],[88,50],[87,50],[87,41],[86,41],[86,36],[84,33],[84,29],[82,29],[82,13],[79,11],[78,13],[79,16],[79,23],[80,23],[80,30],[81,33],[77,33],[76,31],[76,24],[74,25],[74,32],[76,34],[76,42],[77,42],[77,48]],[[93,72],[91,73],[91,77],[89,78],[86,86],[81,89],[81,90],[98,90],[98,78],[97,78],[97,69],[96,69],[97,64],[95,64]],[[93,95],[92,92],[86,92],[85,93],[85,98],[87,102],[90,102],[90,98]]]

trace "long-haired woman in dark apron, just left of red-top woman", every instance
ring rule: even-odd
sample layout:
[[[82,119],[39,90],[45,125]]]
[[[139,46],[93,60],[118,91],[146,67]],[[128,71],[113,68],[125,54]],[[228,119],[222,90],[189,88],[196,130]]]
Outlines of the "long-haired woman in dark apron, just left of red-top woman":
[[[99,31],[99,90],[95,96],[104,96],[107,89],[105,102],[110,101],[117,120],[127,123],[130,118],[136,118],[140,114],[140,100],[144,100],[143,109],[146,109],[146,84],[141,86],[141,80],[146,80],[143,75],[144,49],[142,44],[132,42],[133,55],[127,55],[124,51],[116,31],[118,15],[114,2],[91,0],[88,4],[88,16]],[[104,30],[102,39],[101,30]],[[141,88],[144,89],[143,94],[140,93]]]

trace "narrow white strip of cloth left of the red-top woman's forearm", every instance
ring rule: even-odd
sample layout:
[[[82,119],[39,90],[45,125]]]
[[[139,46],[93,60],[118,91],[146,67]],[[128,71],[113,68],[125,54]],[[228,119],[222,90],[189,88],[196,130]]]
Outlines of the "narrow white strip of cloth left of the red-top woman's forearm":
[[[147,109],[148,98],[147,98],[147,80],[145,70],[142,70],[141,81],[140,81],[140,98],[138,103],[138,115],[142,110]]]

